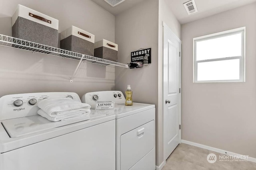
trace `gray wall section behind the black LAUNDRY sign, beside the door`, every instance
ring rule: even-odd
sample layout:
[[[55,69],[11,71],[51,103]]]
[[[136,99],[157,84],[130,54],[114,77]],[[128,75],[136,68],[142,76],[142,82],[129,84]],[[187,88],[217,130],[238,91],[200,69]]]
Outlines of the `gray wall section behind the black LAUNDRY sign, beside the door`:
[[[116,16],[118,62],[130,63],[131,52],[152,48],[152,64],[143,68],[116,67],[116,90],[125,92],[130,84],[134,102],[157,104],[158,1],[144,0]]]

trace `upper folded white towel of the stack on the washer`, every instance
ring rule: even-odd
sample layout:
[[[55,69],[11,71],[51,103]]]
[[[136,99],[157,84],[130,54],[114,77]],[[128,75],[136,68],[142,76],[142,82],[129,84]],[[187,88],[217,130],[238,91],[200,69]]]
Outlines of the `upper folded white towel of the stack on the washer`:
[[[56,112],[56,114],[61,115],[63,114],[63,111],[81,108],[91,108],[90,105],[81,102],[76,102],[71,98],[48,98],[39,101],[37,106],[49,115],[51,115],[53,112]]]

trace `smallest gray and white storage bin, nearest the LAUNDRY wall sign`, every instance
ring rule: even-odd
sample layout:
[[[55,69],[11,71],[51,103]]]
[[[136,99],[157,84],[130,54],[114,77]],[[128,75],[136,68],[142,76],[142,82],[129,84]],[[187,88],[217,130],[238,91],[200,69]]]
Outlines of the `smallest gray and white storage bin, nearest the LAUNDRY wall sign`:
[[[94,56],[106,60],[118,61],[118,45],[106,39],[94,44]]]

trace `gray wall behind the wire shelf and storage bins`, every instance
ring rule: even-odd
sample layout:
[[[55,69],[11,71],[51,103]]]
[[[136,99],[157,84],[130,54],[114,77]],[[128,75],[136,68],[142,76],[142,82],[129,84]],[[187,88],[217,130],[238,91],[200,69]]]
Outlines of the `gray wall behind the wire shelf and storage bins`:
[[[11,17],[22,4],[59,20],[59,32],[71,25],[115,41],[115,17],[90,0],[0,0],[0,33],[12,35]],[[4,7],[4,8],[3,8]],[[78,61],[0,46],[0,96],[28,92],[86,92],[113,90],[115,68],[82,63],[70,83]]]

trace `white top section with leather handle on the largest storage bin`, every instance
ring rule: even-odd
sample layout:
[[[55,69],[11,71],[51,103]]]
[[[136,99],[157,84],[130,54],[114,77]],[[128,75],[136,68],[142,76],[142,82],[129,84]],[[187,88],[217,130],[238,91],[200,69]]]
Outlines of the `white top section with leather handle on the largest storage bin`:
[[[53,29],[59,29],[59,20],[56,20],[52,17],[49,17],[45,14],[42,14],[40,12],[37,12],[36,10],[32,10],[20,4],[18,4],[17,9],[12,16],[12,26],[14,25],[18,17],[26,18],[30,21],[46,25]]]

